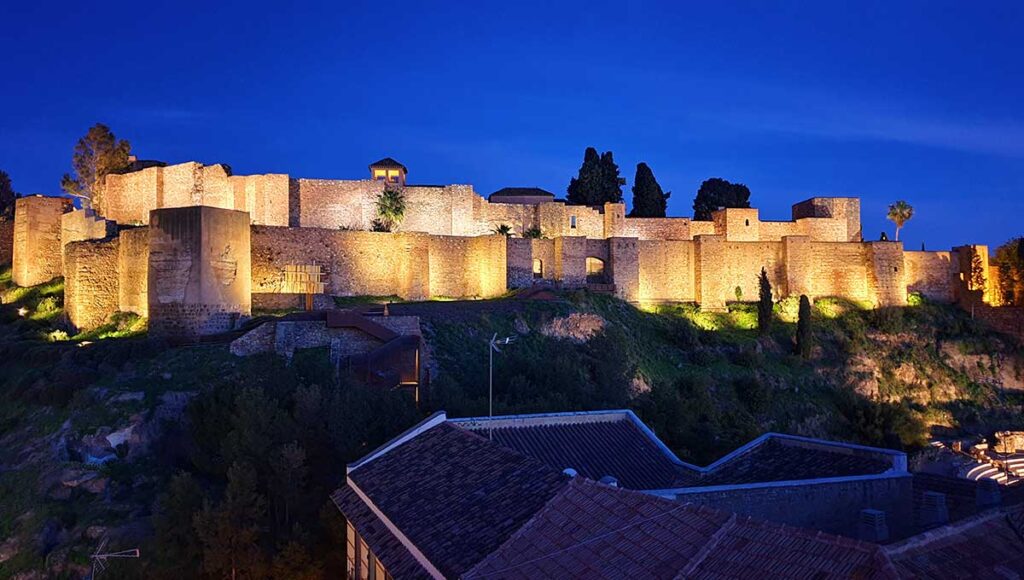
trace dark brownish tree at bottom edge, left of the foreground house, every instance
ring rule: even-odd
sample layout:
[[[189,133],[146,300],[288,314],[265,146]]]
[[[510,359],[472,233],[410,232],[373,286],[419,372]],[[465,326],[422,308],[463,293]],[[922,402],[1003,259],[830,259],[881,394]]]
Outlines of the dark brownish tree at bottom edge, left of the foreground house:
[[[256,470],[234,463],[227,470],[224,499],[207,502],[193,525],[203,545],[203,570],[214,578],[263,578],[266,561],[260,549],[266,499],[259,493]]]

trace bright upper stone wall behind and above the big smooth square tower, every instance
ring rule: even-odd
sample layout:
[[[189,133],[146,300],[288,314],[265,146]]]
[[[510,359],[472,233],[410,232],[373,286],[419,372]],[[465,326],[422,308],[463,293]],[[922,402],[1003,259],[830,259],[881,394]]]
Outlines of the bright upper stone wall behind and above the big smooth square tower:
[[[121,224],[142,224],[150,211],[206,205],[250,214],[253,223],[287,225],[288,175],[231,175],[226,165],[188,162],[105,177],[96,210]]]

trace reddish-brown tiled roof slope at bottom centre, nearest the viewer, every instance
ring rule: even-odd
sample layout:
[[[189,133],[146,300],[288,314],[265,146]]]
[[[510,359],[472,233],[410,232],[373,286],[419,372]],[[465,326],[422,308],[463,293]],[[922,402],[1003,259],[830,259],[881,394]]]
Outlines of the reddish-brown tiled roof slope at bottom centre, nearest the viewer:
[[[465,578],[893,578],[882,548],[573,480]]]

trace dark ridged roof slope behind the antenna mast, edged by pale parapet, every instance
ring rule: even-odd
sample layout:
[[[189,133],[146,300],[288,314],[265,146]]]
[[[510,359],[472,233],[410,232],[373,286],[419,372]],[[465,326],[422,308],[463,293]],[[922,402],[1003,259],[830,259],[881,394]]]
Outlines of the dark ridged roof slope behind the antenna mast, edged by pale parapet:
[[[600,480],[611,475],[633,490],[678,487],[685,473],[668,449],[632,420],[626,411],[520,415],[450,421],[562,470]],[[493,430],[492,430],[492,427]]]

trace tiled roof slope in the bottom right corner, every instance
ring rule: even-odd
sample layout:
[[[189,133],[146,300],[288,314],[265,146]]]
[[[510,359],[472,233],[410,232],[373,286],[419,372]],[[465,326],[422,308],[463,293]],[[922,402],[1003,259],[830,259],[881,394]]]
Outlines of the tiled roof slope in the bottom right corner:
[[[1024,540],[1015,513],[993,511],[886,548],[903,578],[1020,578]]]

